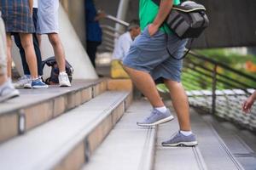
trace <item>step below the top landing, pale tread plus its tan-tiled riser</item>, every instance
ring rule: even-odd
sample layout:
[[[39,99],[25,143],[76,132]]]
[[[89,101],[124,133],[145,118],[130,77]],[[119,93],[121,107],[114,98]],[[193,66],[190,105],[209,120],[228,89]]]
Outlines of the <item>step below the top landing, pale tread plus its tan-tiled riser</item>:
[[[0,169],[79,169],[130,104],[130,92],[105,92],[1,144]]]

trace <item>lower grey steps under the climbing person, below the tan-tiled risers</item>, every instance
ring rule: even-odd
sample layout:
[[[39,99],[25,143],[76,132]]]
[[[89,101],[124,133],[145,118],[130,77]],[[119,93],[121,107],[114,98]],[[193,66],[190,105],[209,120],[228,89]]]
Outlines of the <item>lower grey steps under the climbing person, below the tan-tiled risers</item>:
[[[212,124],[193,109],[191,109],[191,124],[199,145],[162,147],[161,142],[177,132],[177,117],[172,122],[158,127],[137,127],[136,121],[148,116],[150,109],[151,106],[146,100],[133,101],[125,116],[82,169],[252,169],[241,165]],[[253,165],[255,166],[256,163]]]

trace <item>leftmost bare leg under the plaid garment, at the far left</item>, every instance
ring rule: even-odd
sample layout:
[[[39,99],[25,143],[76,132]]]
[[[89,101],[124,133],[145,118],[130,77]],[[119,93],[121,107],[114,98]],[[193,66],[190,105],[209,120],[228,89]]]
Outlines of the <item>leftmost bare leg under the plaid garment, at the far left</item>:
[[[9,33],[6,34],[6,41],[7,41],[7,77],[12,77],[12,38]]]

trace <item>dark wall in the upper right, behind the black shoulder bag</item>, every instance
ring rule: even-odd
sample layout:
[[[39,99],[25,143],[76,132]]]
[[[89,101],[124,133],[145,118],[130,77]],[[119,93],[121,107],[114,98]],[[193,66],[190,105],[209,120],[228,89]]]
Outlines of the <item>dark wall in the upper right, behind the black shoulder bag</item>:
[[[255,0],[198,0],[205,4],[211,21],[201,45],[218,47],[256,47]]]

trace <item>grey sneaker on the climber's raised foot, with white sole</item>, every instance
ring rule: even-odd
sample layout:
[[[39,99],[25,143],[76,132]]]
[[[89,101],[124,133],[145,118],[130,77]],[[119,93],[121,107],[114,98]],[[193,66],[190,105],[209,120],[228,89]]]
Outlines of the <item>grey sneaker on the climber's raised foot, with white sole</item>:
[[[138,126],[142,127],[151,127],[154,125],[159,125],[164,122],[172,121],[174,117],[171,112],[167,109],[166,113],[162,113],[156,109],[154,109],[150,116],[148,116],[143,122],[137,122]]]

